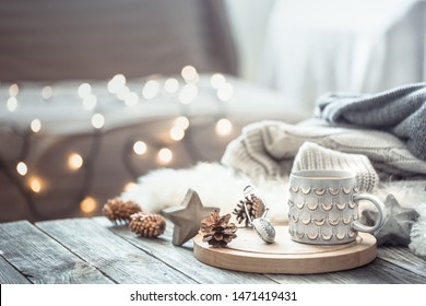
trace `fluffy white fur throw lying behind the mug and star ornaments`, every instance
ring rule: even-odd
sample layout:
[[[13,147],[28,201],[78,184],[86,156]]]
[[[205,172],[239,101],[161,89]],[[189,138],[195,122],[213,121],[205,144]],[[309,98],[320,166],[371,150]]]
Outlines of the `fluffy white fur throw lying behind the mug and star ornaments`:
[[[189,188],[196,190],[205,207],[217,207],[222,213],[230,213],[242,197],[242,188],[253,184],[270,208],[272,222],[287,221],[288,177],[258,177],[256,181],[217,163],[200,163],[192,168],[162,168],[139,178],[138,187],[121,195],[134,200],[146,211],[161,212],[179,205]],[[411,250],[426,256],[426,190],[425,181],[381,183],[374,195],[382,201],[392,193],[401,207],[414,208],[421,214],[412,229]],[[363,203],[360,204],[363,209]]]

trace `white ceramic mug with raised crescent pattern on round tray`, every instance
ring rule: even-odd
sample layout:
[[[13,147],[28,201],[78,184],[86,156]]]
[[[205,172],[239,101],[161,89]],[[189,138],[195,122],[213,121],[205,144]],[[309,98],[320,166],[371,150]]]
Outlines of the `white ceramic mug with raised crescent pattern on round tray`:
[[[379,211],[374,226],[359,222],[358,201]],[[288,232],[293,240],[315,245],[351,243],[358,232],[372,233],[383,223],[384,204],[359,193],[354,174],[344,170],[300,170],[289,176]]]

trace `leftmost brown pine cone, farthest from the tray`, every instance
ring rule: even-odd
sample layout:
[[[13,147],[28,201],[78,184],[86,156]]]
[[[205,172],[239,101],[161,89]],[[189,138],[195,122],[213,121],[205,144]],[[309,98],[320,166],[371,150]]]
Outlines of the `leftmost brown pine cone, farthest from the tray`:
[[[133,201],[122,201],[120,198],[109,199],[102,210],[104,215],[115,224],[128,224],[133,213],[141,212],[142,209]]]

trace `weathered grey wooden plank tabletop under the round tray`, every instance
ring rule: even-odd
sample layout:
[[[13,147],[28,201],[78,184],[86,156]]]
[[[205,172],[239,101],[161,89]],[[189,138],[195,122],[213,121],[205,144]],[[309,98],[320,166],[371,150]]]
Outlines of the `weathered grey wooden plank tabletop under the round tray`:
[[[379,247],[369,264],[322,274],[235,272],[200,262],[192,242],[138,237],[103,216],[0,224],[0,283],[410,283],[426,284],[426,260],[407,248]]]

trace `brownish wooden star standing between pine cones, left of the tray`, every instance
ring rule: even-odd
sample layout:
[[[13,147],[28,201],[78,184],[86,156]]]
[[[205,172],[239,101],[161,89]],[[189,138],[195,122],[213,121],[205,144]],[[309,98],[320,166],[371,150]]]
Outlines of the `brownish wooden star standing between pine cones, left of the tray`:
[[[175,225],[171,243],[181,246],[193,238],[200,229],[201,220],[215,209],[203,207],[198,193],[188,189],[180,205],[163,210],[163,214]]]

